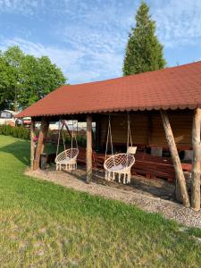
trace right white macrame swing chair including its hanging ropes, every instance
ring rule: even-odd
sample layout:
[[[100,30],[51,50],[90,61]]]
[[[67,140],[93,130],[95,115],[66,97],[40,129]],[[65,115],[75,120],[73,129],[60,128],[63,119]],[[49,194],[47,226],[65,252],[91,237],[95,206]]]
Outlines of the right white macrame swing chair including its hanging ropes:
[[[111,143],[111,152],[112,156],[107,158],[107,149],[109,143],[109,136],[110,136],[110,143]],[[112,138],[112,131],[111,131],[111,117],[109,116],[109,123],[108,123],[108,131],[107,131],[107,140],[106,140],[106,148],[105,148],[105,180],[115,180],[115,176],[118,175],[118,180],[123,184],[130,183],[130,169],[132,165],[135,163],[135,153],[137,147],[132,146],[132,138],[130,132],[130,114],[128,113],[128,135],[127,135],[127,153],[124,154],[113,154],[113,138]]]

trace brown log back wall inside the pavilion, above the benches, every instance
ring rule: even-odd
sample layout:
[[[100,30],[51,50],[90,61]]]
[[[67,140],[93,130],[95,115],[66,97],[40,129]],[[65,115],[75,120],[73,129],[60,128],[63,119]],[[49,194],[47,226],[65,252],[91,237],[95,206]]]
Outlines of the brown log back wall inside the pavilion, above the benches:
[[[192,147],[192,118],[193,112],[189,110],[169,111],[176,145],[179,148]],[[108,126],[108,116],[100,118],[100,145],[104,147]],[[113,143],[126,144],[127,141],[127,115],[111,116]],[[168,147],[163,122],[159,112],[130,113],[130,130],[134,144]]]

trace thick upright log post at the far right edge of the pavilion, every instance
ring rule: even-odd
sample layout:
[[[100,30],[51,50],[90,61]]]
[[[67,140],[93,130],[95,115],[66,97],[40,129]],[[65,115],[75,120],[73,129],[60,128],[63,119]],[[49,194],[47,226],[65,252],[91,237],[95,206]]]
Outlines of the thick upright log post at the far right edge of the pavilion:
[[[200,210],[200,164],[201,164],[201,109],[197,108],[193,116],[192,146],[193,146],[193,170],[191,181],[191,206],[194,210]]]

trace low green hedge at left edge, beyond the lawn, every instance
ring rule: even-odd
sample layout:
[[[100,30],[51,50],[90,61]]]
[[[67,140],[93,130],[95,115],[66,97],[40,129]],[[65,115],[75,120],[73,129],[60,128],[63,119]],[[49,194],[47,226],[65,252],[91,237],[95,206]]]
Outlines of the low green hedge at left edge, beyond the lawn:
[[[29,129],[24,127],[12,127],[10,125],[3,125],[0,127],[0,134],[6,136],[13,136],[15,138],[29,139]]]

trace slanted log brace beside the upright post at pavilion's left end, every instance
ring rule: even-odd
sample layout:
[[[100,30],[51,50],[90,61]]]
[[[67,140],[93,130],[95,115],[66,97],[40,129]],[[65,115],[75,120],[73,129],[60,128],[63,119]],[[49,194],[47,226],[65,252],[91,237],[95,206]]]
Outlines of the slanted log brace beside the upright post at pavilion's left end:
[[[49,120],[47,120],[46,117],[43,117],[41,121],[40,131],[39,131],[38,146],[36,149],[36,155],[35,155],[35,160],[33,164],[34,171],[38,170],[39,168],[40,155],[43,153],[44,142],[45,142],[48,128],[49,128]]]

